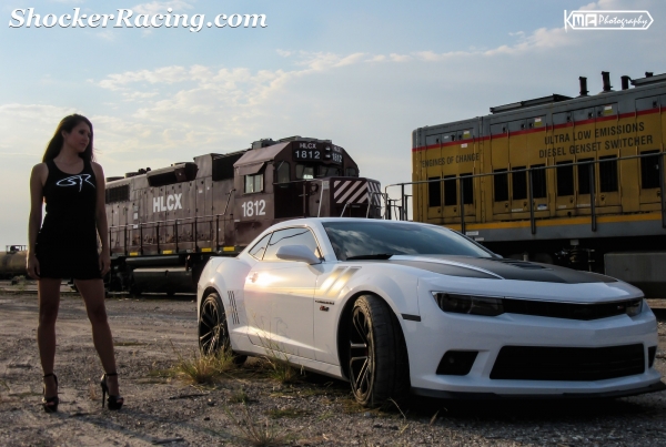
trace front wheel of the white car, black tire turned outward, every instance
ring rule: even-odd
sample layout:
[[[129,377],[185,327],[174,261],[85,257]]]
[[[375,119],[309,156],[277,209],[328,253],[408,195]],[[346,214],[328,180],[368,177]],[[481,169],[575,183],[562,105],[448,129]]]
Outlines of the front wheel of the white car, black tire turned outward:
[[[408,394],[407,352],[389,305],[375,295],[360,296],[349,327],[349,377],[356,402],[376,407]]]

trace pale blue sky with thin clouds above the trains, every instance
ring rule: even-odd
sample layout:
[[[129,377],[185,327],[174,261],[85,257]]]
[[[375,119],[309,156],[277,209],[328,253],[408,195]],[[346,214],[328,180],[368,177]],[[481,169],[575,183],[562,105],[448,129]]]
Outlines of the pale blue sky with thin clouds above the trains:
[[[169,8],[189,27],[134,27]],[[119,27],[27,26],[30,11],[43,20],[75,9],[133,16]],[[654,22],[565,30],[565,10],[645,10]],[[231,27],[233,14],[253,13],[265,27]],[[27,243],[30,171],[70,113],[92,121],[107,176],[302,135],[343,146],[384,186],[411,181],[413,130],[575,96],[581,75],[595,93],[602,71],[615,88],[623,74],[666,73],[664,42],[659,0],[4,0],[0,247]]]

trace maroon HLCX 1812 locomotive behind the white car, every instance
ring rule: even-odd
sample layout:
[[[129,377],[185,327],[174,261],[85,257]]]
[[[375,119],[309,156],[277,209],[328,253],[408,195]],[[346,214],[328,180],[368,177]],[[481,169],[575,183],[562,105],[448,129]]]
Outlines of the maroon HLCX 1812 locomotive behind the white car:
[[[250,149],[107,179],[109,291],[193,292],[211,256],[234,256],[276,222],[381,216],[379,182],[330,140]]]

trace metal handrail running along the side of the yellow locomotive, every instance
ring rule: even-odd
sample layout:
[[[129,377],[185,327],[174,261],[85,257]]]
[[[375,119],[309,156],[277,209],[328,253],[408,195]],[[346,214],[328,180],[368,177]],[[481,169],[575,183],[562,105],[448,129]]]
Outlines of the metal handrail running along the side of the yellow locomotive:
[[[650,153],[650,154],[640,154],[640,155],[629,155],[629,156],[620,156],[620,158],[616,158],[616,159],[607,159],[607,160],[592,160],[592,161],[585,161],[585,162],[572,162],[571,164],[567,163],[567,165],[571,166],[578,166],[578,165],[589,165],[589,193],[592,195],[595,196],[597,195],[596,192],[596,187],[595,187],[595,174],[594,174],[594,165],[595,164],[599,164],[599,163],[607,163],[607,162],[619,162],[619,161],[625,161],[625,160],[635,160],[635,159],[645,159],[645,158],[650,158],[650,156],[658,156],[659,158],[659,167],[658,167],[658,172],[659,172],[659,189],[662,190],[662,227],[666,228],[666,175],[664,174],[664,166],[666,165],[666,162],[664,161],[664,158],[666,156],[666,152],[658,152],[658,153]],[[551,165],[551,166],[538,166],[538,167],[526,167],[524,170],[514,170],[514,171],[505,171],[505,172],[490,172],[490,173],[482,173],[482,174],[473,174],[473,175],[464,175],[461,176],[458,175],[455,181],[456,181],[456,185],[457,189],[460,191],[460,212],[458,212],[458,217],[461,219],[461,232],[464,234],[465,233],[465,204],[464,204],[464,183],[462,182],[463,179],[476,179],[476,177],[486,177],[486,176],[495,176],[495,175],[507,175],[509,173],[514,173],[514,172],[527,172],[527,179],[529,182],[529,186],[528,186],[528,197],[527,200],[531,203],[529,206],[529,221],[531,221],[531,226],[532,226],[532,234],[536,233],[536,220],[534,217],[534,191],[533,191],[533,172],[537,171],[537,170],[552,170],[552,169],[557,169],[559,167],[558,165]],[[389,197],[389,187],[392,186],[400,186],[401,187],[401,206],[396,206],[400,211],[398,213],[398,220],[401,221],[406,221],[407,220],[407,212],[406,212],[406,205],[407,205],[407,199],[411,197],[411,195],[406,195],[404,193],[405,186],[410,186],[410,185],[418,185],[418,184],[426,184],[426,183],[442,183],[444,181],[450,181],[451,179],[436,179],[436,180],[421,180],[417,182],[404,182],[404,183],[393,183],[393,184],[389,184],[386,186],[384,186],[384,195],[386,197]],[[494,182],[493,182],[494,184]],[[390,199],[387,199],[387,201],[391,201]],[[395,200],[397,201],[397,200]],[[592,231],[596,232],[596,213],[595,213],[595,201],[591,200],[589,201],[589,207],[591,207],[591,216],[592,216]],[[389,203],[387,203],[389,206]],[[393,205],[395,206],[395,205]],[[391,219],[391,214],[387,214],[389,217]]]

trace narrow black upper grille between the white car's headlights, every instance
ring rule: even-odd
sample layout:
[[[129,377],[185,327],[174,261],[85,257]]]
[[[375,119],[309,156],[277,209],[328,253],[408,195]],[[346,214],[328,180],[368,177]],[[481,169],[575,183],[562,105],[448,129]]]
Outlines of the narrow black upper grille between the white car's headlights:
[[[598,319],[627,313],[627,306],[639,299],[613,303],[575,304],[504,298],[504,312],[509,314],[549,316],[568,319]]]

